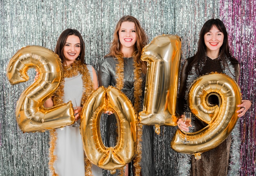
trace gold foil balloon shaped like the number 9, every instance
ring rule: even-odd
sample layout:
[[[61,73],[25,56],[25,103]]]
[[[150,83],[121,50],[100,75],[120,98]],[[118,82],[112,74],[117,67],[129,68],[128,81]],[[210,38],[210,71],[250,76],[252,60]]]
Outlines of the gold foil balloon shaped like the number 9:
[[[218,97],[219,105],[211,105],[210,96]],[[217,72],[200,76],[189,89],[188,105],[194,116],[208,125],[187,133],[188,144],[182,143],[185,134],[178,129],[171,147],[200,159],[201,153],[217,147],[229,136],[238,120],[240,103],[240,88],[232,78]]]

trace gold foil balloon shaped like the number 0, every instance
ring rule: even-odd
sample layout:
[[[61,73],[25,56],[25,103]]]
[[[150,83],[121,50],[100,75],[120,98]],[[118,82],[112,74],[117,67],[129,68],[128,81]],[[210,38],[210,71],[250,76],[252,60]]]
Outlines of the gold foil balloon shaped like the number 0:
[[[99,121],[104,111],[113,111],[117,118],[118,140],[115,147],[103,145]],[[137,118],[130,100],[115,87],[99,87],[88,97],[81,112],[80,131],[87,158],[103,169],[115,173],[135,156]]]

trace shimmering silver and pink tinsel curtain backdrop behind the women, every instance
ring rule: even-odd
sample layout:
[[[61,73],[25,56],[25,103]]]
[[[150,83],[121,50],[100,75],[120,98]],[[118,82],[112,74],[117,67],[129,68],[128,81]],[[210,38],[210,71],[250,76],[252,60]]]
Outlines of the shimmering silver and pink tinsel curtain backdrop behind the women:
[[[85,40],[86,63],[97,71],[109,52],[119,18],[135,16],[149,42],[157,35],[182,38],[182,64],[195,54],[200,29],[211,18],[220,18],[227,27],[231,52],[241,64],[239,86],[243,99],[252,107],[240,118],[240,176],[255,175],[256,123],[256,1],[254,0],[0,0],[0,175],[48,176],[49,132],[22,133],[15,118],[16,102],[33,82],[10,85],[6,68],[22,47],[38,45],[54,51],[64,29],[81,32]],[[102,123],[104,120],[101,119]],[[157,176],[174,176],[179,154],[170,147],[176,127],[161,127],[155,134]],[[101,129],[104,133],[104,127]],[[104,172],[104,175],[110,175]]]

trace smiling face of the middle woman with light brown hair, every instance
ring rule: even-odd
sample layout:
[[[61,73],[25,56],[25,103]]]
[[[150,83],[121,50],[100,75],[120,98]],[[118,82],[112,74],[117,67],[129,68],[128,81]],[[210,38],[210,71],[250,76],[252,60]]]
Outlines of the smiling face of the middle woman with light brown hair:
[[[134,45],[137,40],[134,22],[122,22],[118,34],[121,43],[120,51],[122,52],[126,49],[134,50]]]

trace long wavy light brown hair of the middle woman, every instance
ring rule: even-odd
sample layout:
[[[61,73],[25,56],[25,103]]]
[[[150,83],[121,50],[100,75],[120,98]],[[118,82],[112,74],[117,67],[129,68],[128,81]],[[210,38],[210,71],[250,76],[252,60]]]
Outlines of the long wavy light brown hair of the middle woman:
[[[141,53],[142,53],[142,49],[145,45],[147,45],[148,43],[148,37],[146,36],[146,33],[144,31],[144,29],[142,29],[139,21],[133,17],[133,16],[123,16],[122,18],[120,18],[120,20],[117,22],[116,28],[115,28],[115,32],[114,32],[114,38],[112,41],[112,45],[110,47],[110,53],[107,56],[112,56],[117,58],[118,56],[124,56],[124,54],[119,50],[121,46],[121,43],[119,41],[119,29],[121,27],[121,24],[123,22],[133,22],[135,24],[135,31],[136,31],[136,43],[135,43],[135,48],[134,48],[134,53],[133,56],[135,56],[135,60],[136,62],[141,66],[141,70],[144,74],[146,74],[146,70],[147,70],[147,64],[145,61],[141,61]]]

